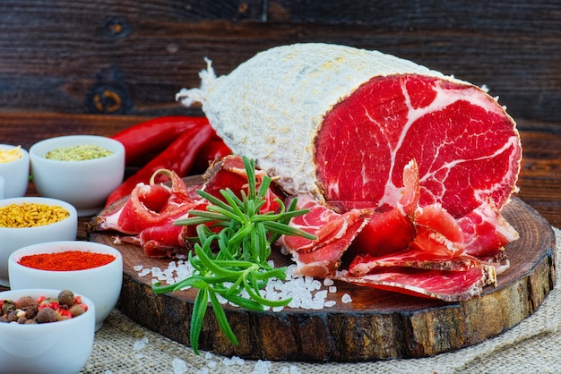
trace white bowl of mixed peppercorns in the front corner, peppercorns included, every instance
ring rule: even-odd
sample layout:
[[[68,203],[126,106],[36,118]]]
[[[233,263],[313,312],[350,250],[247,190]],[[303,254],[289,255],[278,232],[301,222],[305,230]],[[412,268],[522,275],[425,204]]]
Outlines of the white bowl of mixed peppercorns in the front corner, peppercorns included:
[[[2,292],[0,304],[1,372],[75,373],[86,364],[95,327],[90,299],[41,288]]]

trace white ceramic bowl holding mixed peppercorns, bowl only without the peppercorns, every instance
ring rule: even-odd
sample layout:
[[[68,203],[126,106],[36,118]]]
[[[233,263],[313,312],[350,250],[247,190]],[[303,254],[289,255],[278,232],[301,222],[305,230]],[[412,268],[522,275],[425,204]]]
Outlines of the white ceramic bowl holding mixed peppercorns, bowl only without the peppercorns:
[[[73,291],[73,290],[71,290]],[[26,289],[5,291],[0,299],[17,301],[22,296],[58,296],[59,290]],[[74,293],[80,294],[80,293]],[[36,325],[0,323],[0,371],[12,373],[77,373],[93,348],[95,308],[73,319]]]

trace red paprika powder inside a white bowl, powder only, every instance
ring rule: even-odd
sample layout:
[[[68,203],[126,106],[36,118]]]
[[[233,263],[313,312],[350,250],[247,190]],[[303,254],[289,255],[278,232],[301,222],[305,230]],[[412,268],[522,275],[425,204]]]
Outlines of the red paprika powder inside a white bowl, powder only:
[[[73,271],[98,268],[115,259],[114,255],[107,253],[64,251],[23,256],[18,263],[24,267],[38,268],[39,270]]]

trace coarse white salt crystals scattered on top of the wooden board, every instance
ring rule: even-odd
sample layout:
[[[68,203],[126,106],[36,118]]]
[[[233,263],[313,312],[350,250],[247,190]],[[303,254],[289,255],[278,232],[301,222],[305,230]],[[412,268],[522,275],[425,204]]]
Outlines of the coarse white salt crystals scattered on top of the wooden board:
[[[274,267],[274,262],[269,260],[269,265]],[[267,285],[261,290],[261,296],[267,300],[280,301],[291,298],[288,304],[289,308],[300,308],[306,310],[321,310],[330,308],[337,304],[335,300],[330,300],[329,293],[336,293],[337,287],[330,278],[323,281],[315,279],[313,276],[300,276],[294,273],[296,265],[292,264],[287,267],[286,279],[280,280],[272,278]],[[144,268],[137,265],[134,270],[138,272],[138,276],[151,276],[151,283],[166,283],[174,285],[187,277],[191,276],[194,268],[188,260],[178,259],[168,262],[168,268]],[[228,286],[228,285],[227,285]],[[185,287],[184,289],[189,288]],[[242,297],[249,297],[246,292],[241,293]],[[332,297],[332,296],[331,296]],[[218,295],[221,304],[230,303]],[[343,296],[341,302],[350,302],[350,295]],[[231,303],[230,303],[231,304]],[[232,304],[236,306],[235,304]],[[264,307],[264,310],[281,311],[284,307]]]

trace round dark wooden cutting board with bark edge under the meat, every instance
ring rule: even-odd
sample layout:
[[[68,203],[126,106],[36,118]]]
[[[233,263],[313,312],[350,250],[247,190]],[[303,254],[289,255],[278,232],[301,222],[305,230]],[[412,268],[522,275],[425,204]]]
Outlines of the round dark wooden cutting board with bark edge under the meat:
[[[220,332],[211,308],[203,321],[199,348],[226,356],[272,361],[374,361],[420,358],[478,344],[530,316],[555,284],[555,235],[548,222],[522,200],[504,208],[520,233],[506,247],[511,267],[496,287],[467,302],[440,302],[336,282],[323,310],[285,308],[254,312],[225,307],[238,345]],[[156,295],[151,276],[135,266],[168,268],[171,259],[149,259],[132,244],[114,244],[115,233],[94,232],[93,242],[123,254],[124,280],[117,308],[144,327],[189,344],[194,290]],[[275,264],[290,259],[274,253]],[[352,302],[341,297],[349,293]]]

